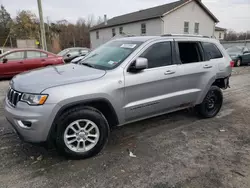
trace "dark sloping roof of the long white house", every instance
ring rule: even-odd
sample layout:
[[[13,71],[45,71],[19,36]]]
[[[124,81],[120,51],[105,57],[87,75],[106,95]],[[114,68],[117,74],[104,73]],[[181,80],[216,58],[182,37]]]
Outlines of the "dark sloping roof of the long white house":
[[[164,4],[164,5],[160,5],[157,7],[152,7],[149,9],[145,9],[145,10],[140,10],[137,12],[132,12],[129,14],[125,14],[125,15],[121,15],[121,16],[117,16],[114,18],[111,18],[110,20],[107,21],[107,24],[105,25],[105,23],[101,23],[99,25],[96,25],[94,27],[92,27],[90,30],[94,31],[97,29],[103,29],[103,28],[107,28],[107,27],[112,27],[112,26],[116,26],[116,25],[122,25],[122,24],[127,24],[127,23],[133,23],[133,22],[137,22],[137,21],[143,21],[143,20],[150,20],[150,19],[154,19],[154,18],[159,18],[165,14],[168,14],[180,7],[182,7],[183,5],[190,3],[192,1],[196,1],[200,7],[215,21],[215,22],[219,22],[219,20],[206,8],[206,6],[201,2],[201,0],[179,0],[179,1],[175,1],[169,4]]]

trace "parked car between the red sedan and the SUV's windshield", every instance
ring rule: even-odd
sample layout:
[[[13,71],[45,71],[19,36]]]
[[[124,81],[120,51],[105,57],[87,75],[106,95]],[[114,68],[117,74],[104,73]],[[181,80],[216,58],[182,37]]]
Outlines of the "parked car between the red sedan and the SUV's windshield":
[[[63,56],[64,62],[69,63],[76,57],[85,56],[89,52],[90,52],[90,49],[88,48],[74,47],[74,48],[67,48],[59,52],[57,55]]]

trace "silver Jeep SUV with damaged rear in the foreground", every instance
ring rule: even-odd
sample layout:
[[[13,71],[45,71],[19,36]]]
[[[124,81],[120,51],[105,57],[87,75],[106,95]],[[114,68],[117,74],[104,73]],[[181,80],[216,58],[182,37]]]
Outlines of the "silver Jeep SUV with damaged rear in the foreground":
[[[74,158],[96,155],[110,128],[195,107],[214,117],[233,62],[217,40],[128,37],[92,51],[79,64],[14,77],[5,116],[20,137],[53,142]]]

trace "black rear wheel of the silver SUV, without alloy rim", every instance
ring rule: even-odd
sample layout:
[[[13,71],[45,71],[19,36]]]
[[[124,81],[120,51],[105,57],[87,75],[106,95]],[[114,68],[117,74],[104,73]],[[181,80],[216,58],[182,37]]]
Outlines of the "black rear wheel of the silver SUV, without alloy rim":
[[[212,86],[203,102],[196,106],[196,110],[199,115],[203,118],[212,118],[215,117],[223,103],[223,94],[219,87]]]

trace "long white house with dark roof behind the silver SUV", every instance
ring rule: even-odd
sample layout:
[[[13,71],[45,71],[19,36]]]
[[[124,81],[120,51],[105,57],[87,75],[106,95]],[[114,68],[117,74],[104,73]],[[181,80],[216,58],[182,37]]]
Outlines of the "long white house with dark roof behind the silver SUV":
[[[219,20],[201,0],[173,3],[117,16],[91,28],[91,47],[122,35],[199,34],[214,36]]]

